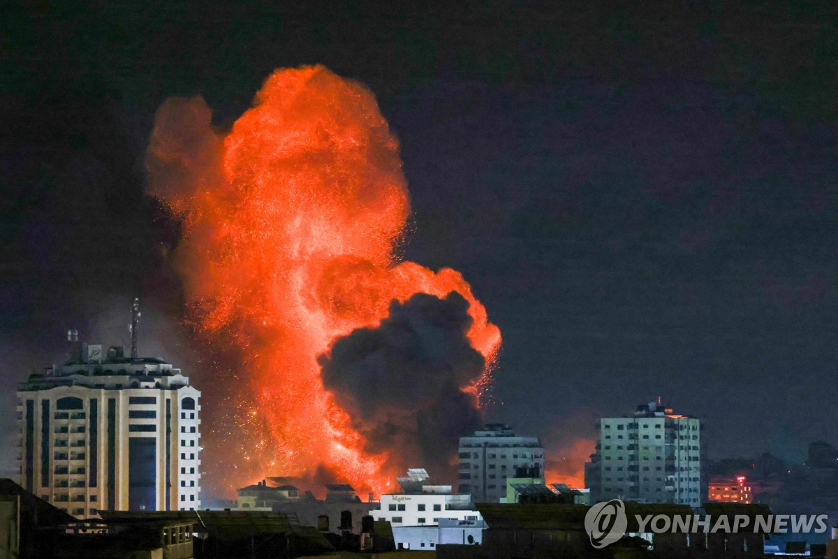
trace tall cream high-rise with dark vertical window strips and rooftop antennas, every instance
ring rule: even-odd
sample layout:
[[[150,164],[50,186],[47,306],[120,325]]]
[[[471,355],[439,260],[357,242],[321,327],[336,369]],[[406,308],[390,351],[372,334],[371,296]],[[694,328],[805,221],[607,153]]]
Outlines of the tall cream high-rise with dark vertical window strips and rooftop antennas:
[[[200,501],[200,392],[163,360],[81,344],[18,388],[20,483],[71,515]]]

